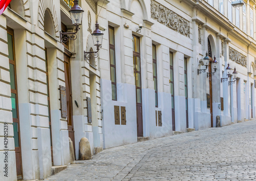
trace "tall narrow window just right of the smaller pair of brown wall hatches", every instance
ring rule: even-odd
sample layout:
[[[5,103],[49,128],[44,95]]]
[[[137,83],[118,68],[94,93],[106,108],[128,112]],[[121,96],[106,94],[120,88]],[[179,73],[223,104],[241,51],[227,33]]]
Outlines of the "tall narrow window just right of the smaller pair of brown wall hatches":
[[[174,56],[173,56],[173,52],[170,52],[170,94],[172,95],[172,121],[173,121],[173,131],[175,131]]]

